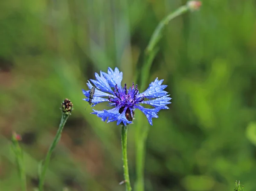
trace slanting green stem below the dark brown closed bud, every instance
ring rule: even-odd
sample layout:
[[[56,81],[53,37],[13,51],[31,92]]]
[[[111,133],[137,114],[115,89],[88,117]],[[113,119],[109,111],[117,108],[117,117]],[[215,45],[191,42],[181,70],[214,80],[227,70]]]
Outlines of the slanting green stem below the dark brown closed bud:
[[[61,123],[59,125],[57,134],[54,137],[52,145],[50,146],[50,148],[49,148],[49,150],[47,152],[47,156],[45,158],[45,162],[44,162],[44,165],[43,165],[43,168],[42,168],[41,176],[39,177],[39,191],[43,191],[44,190],[43,187],[44,187],[45,174],[46,174],[47,168],[49,166],[49,162],[50,162],[50,158],[51,158],[51,155],[52,155],[52,151],[54,150],[54,148],[56,147],[58,141],[61,138],[61,132],[62,132],[62,130],[64,128],[64,125],[65,125],[68,117],[69,117],[69,114],[62,113],[62,115],[61,115]]]

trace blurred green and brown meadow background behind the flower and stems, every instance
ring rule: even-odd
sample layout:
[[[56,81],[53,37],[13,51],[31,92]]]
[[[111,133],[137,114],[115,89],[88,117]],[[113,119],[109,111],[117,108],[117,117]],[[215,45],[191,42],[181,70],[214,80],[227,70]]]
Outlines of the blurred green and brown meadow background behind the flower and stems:
[[[0,191],[20,190],[12,131],[23,137],[29,191],[37,186],[37,165],[57,131],[65,98],[75,109],[52,156],[46,191],[125,190],[119,185],[120,128],[90,114],[89,106],[84,110],[81,89],[109,66],[123,71],[123,83],[143,75],[143,51],[155,27],[185,3],[0,3]],[[148,83],[164,79],[173,99],[150,127],[145,191],[228,191],[235,180],[256,190],[256,1],[202,3],[200,11],[169,23],[151,67]],[[128,129],[132,187],[137,121]]]

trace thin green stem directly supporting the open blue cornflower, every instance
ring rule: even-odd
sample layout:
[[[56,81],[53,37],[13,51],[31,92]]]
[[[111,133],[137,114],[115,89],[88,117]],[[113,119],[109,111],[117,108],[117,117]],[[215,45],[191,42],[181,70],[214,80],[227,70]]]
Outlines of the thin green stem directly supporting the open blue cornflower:
[[[127,160],[127,126],[121,125],[121,140],[122,140],[122,160],[124,168],[124,178],[126,191],[131,191],[129,178],[128,160]]]

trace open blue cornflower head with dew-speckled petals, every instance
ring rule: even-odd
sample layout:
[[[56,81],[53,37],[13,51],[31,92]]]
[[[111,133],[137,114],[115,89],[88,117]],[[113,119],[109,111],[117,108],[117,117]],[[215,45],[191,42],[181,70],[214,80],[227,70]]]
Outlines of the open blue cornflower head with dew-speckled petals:
[[[100,71],[100,75],[95,73],[96,80],[90,80],[95,85],[95,93],[93,97],[93,105],[101,102],[108,102],[108,106],[113,106],[109,110],[97,111],[93,109],[92,114],[96,114],[102,118],[102,121],[108,119],[107,122],[117,121],[117,125],[123,123],[132,123],[134,117],[134,110],[140,109],[148,118],[148,122],[152,125],[152,117],[158,118],[157,112],[161,109],[169,109],[166,105],[170,104],[168,92],[163,91],[166,85],[161,85],[163,80],[156,78],[154,82],[149,84],[148,88],[139,93],[137,85],[127,88],[121,86],[122,72],[119,72],[118,68],[113,71],[108,68],[108,74]],[[93,85],[88,81],[87,86],[89,89],[93,88]],[[83,90],[83,94],[87,97],[83,99],[89,101],[90,90]],[[155,99],[154,99],[155,98]],[[140,104],[148,104],[154,108],[144,108]]]

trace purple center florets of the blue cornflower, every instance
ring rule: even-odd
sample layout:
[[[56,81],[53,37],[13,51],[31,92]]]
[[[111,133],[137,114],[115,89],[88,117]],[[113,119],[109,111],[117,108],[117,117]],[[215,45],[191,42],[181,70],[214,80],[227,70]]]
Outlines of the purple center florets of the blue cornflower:
[[[132,86],[129,89],[127,89],[126,83],[121,89],[119,89],[116,84],[116,88],[113,89],[113,92],[116,97],[109,97],[108,100],[111,103],[115,103],[116,106],[123,107],[122,110],[124,110],[124,108],[133,109],[135,104],[144,100],[144,95],[143,97],[137,97],[139,90],[137,85],[134,88],[134,83],[132,83]]]

